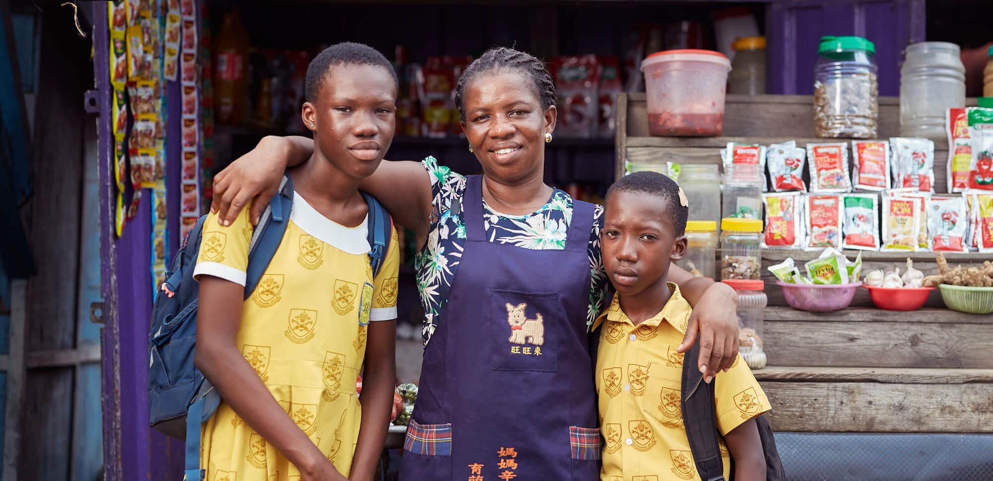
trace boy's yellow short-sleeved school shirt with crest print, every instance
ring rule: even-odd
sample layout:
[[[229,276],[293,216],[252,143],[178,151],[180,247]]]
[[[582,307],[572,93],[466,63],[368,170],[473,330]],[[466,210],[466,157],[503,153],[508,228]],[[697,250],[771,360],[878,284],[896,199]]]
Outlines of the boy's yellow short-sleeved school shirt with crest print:
[[[605,439],[601,481],[699,479],[680,410],[682,342],[689,303],[668,283],[672,297],[662,310],[636,327],[618,296],[594,323],[600,329],[597,392],[600,432]],[[742,422],[770,410],[769,400],[741,357],[715,381],[717,429],[724,477],[731,465],[723,436]]]

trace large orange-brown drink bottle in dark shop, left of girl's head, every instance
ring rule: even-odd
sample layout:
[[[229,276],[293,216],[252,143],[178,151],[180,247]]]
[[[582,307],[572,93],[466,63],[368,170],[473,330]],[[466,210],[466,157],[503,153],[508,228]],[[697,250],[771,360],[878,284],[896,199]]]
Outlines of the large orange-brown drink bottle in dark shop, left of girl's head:
[[[248,110],[248,34],[237,10],[224,15],[213,46],[213,102],[217,122],[243,124]]]

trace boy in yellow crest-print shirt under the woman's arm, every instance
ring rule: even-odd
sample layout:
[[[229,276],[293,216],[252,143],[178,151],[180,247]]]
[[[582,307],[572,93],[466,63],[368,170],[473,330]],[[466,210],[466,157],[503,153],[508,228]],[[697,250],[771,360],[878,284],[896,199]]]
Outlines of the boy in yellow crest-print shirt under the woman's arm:
[[[680,409],[683,354],[676,352],[691,307],[666,282],[669,261],[686,253],[687,206],[673,180],[638,172],[607,192],[600,233],[604,268],[617,290],[600,315],[597,392],[605,439],[602,481],[699,479]],[[717,427],[724,477],[766,479],[754,418],[769,400],[744,362],[718,373]],[[730,451],[730,452],[729,452]]]

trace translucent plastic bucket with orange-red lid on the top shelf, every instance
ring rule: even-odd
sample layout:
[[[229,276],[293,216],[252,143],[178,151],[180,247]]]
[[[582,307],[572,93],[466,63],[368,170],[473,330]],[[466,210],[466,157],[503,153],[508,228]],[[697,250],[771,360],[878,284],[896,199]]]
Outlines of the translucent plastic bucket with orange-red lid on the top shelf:
[[[648,133],[716,137],[724,133],[724,96],[731,60],[720,52],[675,50],[641,61]]]

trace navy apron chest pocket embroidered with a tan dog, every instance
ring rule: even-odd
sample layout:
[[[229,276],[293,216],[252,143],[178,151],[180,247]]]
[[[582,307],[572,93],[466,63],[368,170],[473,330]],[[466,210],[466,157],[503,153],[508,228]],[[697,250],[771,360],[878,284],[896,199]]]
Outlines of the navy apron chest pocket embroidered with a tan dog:
[[[558,293],[520,293],[490,289],[490,311],[484,340],[490,366],[501,371],[558,371]]]

